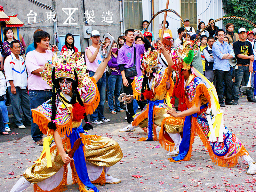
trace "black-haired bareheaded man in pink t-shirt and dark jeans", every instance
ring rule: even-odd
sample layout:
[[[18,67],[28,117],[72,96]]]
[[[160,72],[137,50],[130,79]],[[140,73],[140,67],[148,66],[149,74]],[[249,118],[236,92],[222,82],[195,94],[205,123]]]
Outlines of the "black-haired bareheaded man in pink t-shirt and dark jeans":
[[[51,99],[52,88],[44,81],[40,72],[45,69],[48,60],[52,60],[52,51],[49,48],[50,35],[45,31],[38,31],[34,35],[34,45],[36,50],[28,52],[26,55],[26,68],[28,71],[29,106],[31,116],[31,136],[36,145],[43,146],[43,133],[38,125],[33,122],[31,109],[37,108],[45,101]],[[58,51],[53,45],[54,51]]]

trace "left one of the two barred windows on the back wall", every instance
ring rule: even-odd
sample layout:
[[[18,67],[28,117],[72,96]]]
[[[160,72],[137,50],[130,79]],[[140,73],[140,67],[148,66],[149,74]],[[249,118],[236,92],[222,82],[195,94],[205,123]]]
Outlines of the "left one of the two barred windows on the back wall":
[[[142,30],[142,0],[123,0],[124,28]]]

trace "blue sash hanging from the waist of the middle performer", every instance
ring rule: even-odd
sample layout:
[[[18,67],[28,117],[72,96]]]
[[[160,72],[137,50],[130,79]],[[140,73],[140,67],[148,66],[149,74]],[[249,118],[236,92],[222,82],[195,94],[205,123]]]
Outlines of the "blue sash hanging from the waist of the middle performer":
[[[148,100],[148,139],[146,141],[153,140],[153,109],[154,105],[159,105],[160,103],[164,103],[164,100]]]

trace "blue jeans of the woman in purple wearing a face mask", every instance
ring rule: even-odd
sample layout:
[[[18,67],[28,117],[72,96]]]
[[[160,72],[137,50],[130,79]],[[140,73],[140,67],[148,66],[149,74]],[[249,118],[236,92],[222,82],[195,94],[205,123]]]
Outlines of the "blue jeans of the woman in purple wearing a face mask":
[[[114,102],[113,96],[115,95],[115,102],[116,102],[116,111],[120,111],[120,102],[118,97],[120,96],[121,91],[121,84],[122,84],[122,76],[121,75],[110,75],[108,77],[108,107],[109,112],[114,110]]]

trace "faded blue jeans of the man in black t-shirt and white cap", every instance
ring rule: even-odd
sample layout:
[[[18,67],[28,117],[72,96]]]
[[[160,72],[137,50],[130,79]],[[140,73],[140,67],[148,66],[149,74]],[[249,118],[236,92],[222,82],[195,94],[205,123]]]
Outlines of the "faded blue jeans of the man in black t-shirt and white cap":
[[[237,66],[237,67],[238,69],[236,69],[236,78],[233,86],[234,100],[239,99],[238,93],[239,93],[239,88],[240,88],[243,77],[244,77],[244,82],[247,84],[250,76],[249,67],[244,67],[244,66]],[[251,99],[253,97],[252,90],[246,90],[246,96],[247,96],[247,99]]]

